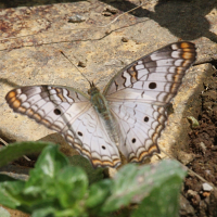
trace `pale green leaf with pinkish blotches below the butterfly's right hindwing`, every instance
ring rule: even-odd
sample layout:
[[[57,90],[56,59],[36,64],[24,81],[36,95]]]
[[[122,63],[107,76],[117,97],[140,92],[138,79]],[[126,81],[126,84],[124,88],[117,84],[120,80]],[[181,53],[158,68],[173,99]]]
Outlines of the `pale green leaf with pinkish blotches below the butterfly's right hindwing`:
[[[177,177],[180,183],[186,170],[176,161],[162,161],[155,165],[137,167],[128,164],[119,169],[114,179],[112,195],[103,204],[103,212],[117,210],[129,203],[140,203],[155,188]]]

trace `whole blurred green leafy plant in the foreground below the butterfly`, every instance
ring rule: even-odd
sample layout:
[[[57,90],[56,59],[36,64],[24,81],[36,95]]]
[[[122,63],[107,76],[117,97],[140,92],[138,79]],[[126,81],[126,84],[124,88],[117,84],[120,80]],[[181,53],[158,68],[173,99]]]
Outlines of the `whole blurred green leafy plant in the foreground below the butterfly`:
[[[178,216],[179,191],[186,176],[178,162],[128,164],[114,179],[102,179],[102,168],[93,169],[84,158],[79,158],[82,168],[75,166],[77,156],[68,159],[58,145],[28,142],[28,148],[35,149],[37,144],[46,148],[27,181],[0,175],[0,204],[31,214],[31,217]],[[18,146],[27,150],[27,143]],[[2,153],[10,154],[13,148],[17,149],[17,144],[1,150],[0,159]]]

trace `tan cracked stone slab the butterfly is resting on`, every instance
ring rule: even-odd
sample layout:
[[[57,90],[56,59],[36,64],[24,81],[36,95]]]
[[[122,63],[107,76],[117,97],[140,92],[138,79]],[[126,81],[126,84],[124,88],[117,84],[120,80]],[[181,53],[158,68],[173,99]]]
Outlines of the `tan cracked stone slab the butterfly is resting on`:
[[[130,3],[128,8],[122,1],[78,1],[0,11],[3,17],[0,36],[0,113],[3,114],[0,117],[0,135],[3,139],[8,142],[54,141],[63,145],[65,153],[74,154],[61,136],[26,116],[13,113],[4,101],[7,92],[18,86],[50,84],[87,91],[88,82],[60,50],[75,65],[82,63],[85,67],[79,67],[79,71],[101,90],[125,65],[180,39],[195,42],[199,61],[216,58],[215,1],[209,2],[206,12],[199,0],[192,2],[195,8],[193,11],[191,2],[161,4],[144,1],[142,8],[117,17],[139,5],[139,1]],[[178,13],[180,8],[182,11]],[[164,10],[169,11],[168,14],[164,12],[169,20],[165,17]],[[82,15],[86,21],[68,22],[75,14]],[[202,27],[208,24],[209,29],[201,29],[195,18],[190,22],[193,15],[201,18]],[[117,20],[110,25],[115,17]],[[210,72],[209,67],[208,64],[192,67],[174,100],[175,112],[170,114],[159,141],[159,146],[171,155],[177,153],[174,149],[184,145],[184,135],[190,126],[183,114],[193,110],[193,104],[192,107],[187,105],[192,95],[202,91],[203,78]]]

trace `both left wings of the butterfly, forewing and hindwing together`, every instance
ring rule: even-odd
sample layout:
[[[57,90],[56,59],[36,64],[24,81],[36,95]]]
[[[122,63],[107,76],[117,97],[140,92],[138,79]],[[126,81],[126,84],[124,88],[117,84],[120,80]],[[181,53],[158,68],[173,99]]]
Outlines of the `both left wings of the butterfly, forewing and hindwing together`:
[[[118,150],[90,100],[78,90],[56,86],[22,87],[10,91],[5,100],[14,112],[60,132],[93,166],[120,164]]]

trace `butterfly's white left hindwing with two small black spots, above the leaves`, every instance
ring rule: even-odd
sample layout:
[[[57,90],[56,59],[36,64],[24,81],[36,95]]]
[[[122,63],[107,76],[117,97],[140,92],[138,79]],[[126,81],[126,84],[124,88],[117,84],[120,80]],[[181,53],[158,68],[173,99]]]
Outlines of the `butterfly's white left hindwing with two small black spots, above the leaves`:
[[[74,130],[80,144],[76,144],[68,131]],[[104,128],[103,122],[93,107],[71,123],[71,128],[64,132],[65,139],[85,153],[93,166],[116,167],[120,164],[119,152]]]

